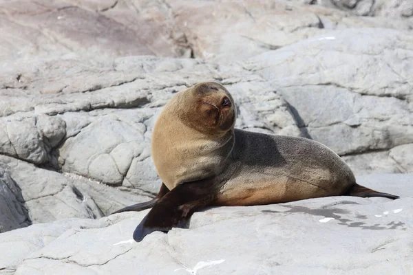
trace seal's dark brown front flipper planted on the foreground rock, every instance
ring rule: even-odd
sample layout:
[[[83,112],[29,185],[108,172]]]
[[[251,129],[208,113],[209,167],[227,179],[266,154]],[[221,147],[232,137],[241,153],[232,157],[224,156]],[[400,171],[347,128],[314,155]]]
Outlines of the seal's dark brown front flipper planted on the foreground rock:
[[[176,186],[142,219],[134,232],[134,240],[140,242],[154,231],[187,228],[193,212],[211,205],[215,200],[213,188],[211,181],[205,180]]]

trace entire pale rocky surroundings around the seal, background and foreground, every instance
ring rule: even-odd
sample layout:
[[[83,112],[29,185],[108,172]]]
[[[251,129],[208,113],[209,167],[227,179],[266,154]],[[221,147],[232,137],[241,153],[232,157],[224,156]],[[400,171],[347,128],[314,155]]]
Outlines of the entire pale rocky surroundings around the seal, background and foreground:
[[[413,274],[412,29],[410,0],[0,0],[0,274]],[[401,199],[211,208],[131,241],[147,211],[105,216],[156,195],[153,123],[206,80],[237,128],[322,142]]]

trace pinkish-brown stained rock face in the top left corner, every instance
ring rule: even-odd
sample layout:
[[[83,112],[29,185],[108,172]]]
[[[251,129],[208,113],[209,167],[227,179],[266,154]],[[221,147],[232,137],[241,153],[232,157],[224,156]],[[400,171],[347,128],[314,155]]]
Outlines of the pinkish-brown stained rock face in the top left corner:
[[[1,60],[14,62],[28,56],[73,52],[85,56],[173,55],[172,47],[160,43],[171,43],[162,25],[151,23],[150,18],[138,17],[133,23],[140,28],[128,28],[130,23],[105,17],[102,10],[94,12],[67,2],[30,1],[22,8],[22,1],[0,1],[0,20],[6,34],[1,41],[6,45]]]

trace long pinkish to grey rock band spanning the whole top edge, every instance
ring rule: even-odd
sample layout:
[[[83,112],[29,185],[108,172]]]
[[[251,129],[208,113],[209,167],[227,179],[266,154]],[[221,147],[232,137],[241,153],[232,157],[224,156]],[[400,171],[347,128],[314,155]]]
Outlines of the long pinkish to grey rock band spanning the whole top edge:
[[[151,54],[233,61],[326,30],[413,27],[405,20],[412,13],[408,0],[322,1],[328,8],[300,1],[3,0],[0,60],[11,65],[34,57]],[[335,9],[337,5],[346,12]],[[63,87],[49,85],[45,92]]]

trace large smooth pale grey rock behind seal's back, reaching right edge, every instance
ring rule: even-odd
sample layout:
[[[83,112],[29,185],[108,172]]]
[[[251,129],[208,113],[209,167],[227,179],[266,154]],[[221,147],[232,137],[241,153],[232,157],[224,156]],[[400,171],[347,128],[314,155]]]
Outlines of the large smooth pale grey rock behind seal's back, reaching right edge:
[[[408,32],[346,29],[261,54],[247,68],[293,106],[308,137],[339,155],[384,151],[412,142],[411,41]]]

